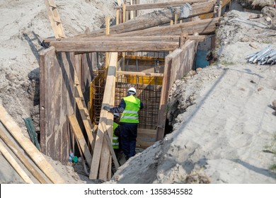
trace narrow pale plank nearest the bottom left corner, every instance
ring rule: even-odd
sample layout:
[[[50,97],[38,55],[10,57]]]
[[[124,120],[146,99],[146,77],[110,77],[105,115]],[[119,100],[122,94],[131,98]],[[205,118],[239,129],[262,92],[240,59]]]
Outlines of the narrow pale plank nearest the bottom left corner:
[[[21,168],[21,166],[16,162],[16,160],[11,156],[10,153],[8,153],[8,150],[4,147],[4,145],[0,142],[0,152],[3,154],[3,156],[6,158],[8,163],[11,164],[11,166],[16,170],[18,175],[21,176],[24,182],[28,184],[33,184],[33,181],[30,180],[30,177],[25,173],[25,171]]]

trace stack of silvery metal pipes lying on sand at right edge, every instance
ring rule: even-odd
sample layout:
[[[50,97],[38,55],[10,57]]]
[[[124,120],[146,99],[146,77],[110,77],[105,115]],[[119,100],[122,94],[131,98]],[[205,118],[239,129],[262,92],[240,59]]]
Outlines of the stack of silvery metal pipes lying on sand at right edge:
[[[260,52],[256,52],[255,54],[251,54],[248,57],[248,62],[251,63],[258,63],[258,64],[276,64],[276,49],[275,47],[272,47],[271,45],[266,47],[264,50],[261,50]]]

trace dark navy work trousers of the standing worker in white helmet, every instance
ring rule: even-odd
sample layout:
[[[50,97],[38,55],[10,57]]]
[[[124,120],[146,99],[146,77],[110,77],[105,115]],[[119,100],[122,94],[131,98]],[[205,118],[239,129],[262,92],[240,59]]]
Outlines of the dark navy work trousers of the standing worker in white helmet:
[[[137,138],[138,124],[134,123],[120,123],[122,151],[125,156],[131,158],[135,156],[136,138]]]

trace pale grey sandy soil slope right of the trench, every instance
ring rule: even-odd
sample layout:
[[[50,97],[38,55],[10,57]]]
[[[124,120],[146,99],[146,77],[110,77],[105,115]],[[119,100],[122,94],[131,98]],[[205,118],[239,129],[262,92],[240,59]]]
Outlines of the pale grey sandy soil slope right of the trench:
[[[227,14],[217,33],[217,62],[171,90],[173,132],[131,158],[111,182],[276,183],[270,170],[276,158],[266,152],[276,132],[276,66],[246,61],[275,45],[275,30],[265,16],[249,16]]]

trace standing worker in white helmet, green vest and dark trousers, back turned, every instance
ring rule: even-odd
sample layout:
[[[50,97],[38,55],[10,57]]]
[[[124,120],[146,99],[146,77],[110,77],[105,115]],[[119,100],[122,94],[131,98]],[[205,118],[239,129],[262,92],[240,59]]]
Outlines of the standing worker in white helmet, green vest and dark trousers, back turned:
[[[120,117],[120,134],[122,141],[122,151],[125,153],[126,160],[136,154],[137,128],[139,124],[138,112],[144,105],[135,97],[136,89],[131,87],[127,91],[127,96],[122,98],[118,107],[110,108],[104,106],[104,110],[113,113],[122,113]]]

